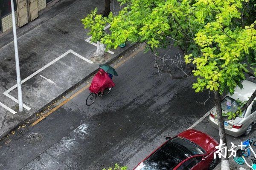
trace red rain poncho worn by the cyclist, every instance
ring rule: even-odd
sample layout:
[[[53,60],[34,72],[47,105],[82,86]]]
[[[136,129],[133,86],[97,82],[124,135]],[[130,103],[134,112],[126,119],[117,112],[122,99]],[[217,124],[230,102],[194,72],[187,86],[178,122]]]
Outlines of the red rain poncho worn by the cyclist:
[[[100,72],[102,72],[102,74],[100,74]],[[109,77],[108,73],[103,69],[99,69],[99,72],[97,72],[92,80],[89,90],[92,93],[98,94],[98,92],[103,92],[104,89],[113,86],[115,86],[115,84]]]

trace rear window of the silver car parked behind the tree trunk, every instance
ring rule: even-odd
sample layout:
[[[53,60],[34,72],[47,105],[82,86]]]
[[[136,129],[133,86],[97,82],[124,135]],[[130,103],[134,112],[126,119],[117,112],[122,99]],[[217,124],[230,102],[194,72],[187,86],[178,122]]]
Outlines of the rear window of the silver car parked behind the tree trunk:
[[[230,96],[226,96],[224,100],[221,102],[221,108],[225,112],[236,112],[239,107],[239,102],[237,102],[235,99],[231,98]],[[242,115],[238,115],[238,117],[243,118],[244,112],[242,112]]]

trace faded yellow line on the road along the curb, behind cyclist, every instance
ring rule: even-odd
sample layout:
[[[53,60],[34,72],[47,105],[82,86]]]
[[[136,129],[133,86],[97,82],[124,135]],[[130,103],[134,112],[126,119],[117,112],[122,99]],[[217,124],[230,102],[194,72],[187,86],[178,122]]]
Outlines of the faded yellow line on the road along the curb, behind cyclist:
[[[119,66],[121,66],[123,63],[125,63],[126,61],[128,61],[130,58],[134,57],[135,55],[137,55],[140,51],[142,51],[144,49],[145,45],[141,45],[139,49],[137,49],[135,52],[133,52],[131,55],[129,55],[129,57],[125,58],[124,60],[120,61],[119,63],[117,63],[114,68],[118,68]],[[46,114],[44,114],[41,118],[39,118],[38,120],[34,121],[30,126],[35,126],[36,124],[38,124],[40,121],[42,121],[44,118],[46,118],[47,116],[49,116],[50,114],[52,114],[52,112],[54,112],[55,110],[57,110],[58,108],[60,108],[61,106],[63,106],[64,104],[66,104],[68,101],[70,101],[71,99],[73,99],[74,97],[76,97],[77,95],[79,95],[81,92],[83,92],[85,89],[89,88],[90,84],[87,84],[86,86],[84,86],[82,89],[80,89],[78,92],[76,92],[75,94],[73,94],[72,96],[70,96],[69,98],[67,98],[65,101],[62,101],[58,106],[56,106],[55,108],[51,109],[49,112],[47,112]]]

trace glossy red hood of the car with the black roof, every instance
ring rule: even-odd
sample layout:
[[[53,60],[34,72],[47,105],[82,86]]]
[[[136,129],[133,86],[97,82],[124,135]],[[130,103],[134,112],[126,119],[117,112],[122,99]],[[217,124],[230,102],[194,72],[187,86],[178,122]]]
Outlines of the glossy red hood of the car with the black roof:
[[[177,136],[189,139],[195,144],[198,144],[207,153],[209,153],[212,150],[212,148],[215,148],[215,146],[218,146],[218,142],[214,138],[194,129],[185,130],[184,132],[180,133]]]

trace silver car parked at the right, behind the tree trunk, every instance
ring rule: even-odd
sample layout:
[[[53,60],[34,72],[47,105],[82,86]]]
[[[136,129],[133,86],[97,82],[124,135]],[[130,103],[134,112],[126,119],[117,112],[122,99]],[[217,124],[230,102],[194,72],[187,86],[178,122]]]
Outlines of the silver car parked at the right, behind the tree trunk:
[[[256,90],[256,83],[253,81],[244,80],[242,81],[243,89],[238,86],[235,88],[233,95],[227,95],[221,102],[222,112],[236,112],[239,107],[237,100],[245,102],[248,101],[250,96]],[[216,114],[216,108],[212,108],[209,115],[209,123],[218,129],[218,118]],[[236,119],[230,121],[224,121],[225,133],[232,136],[249,135],[253,125],[256,123],[256,101],[250,104],[249,107],[236,117]]]

